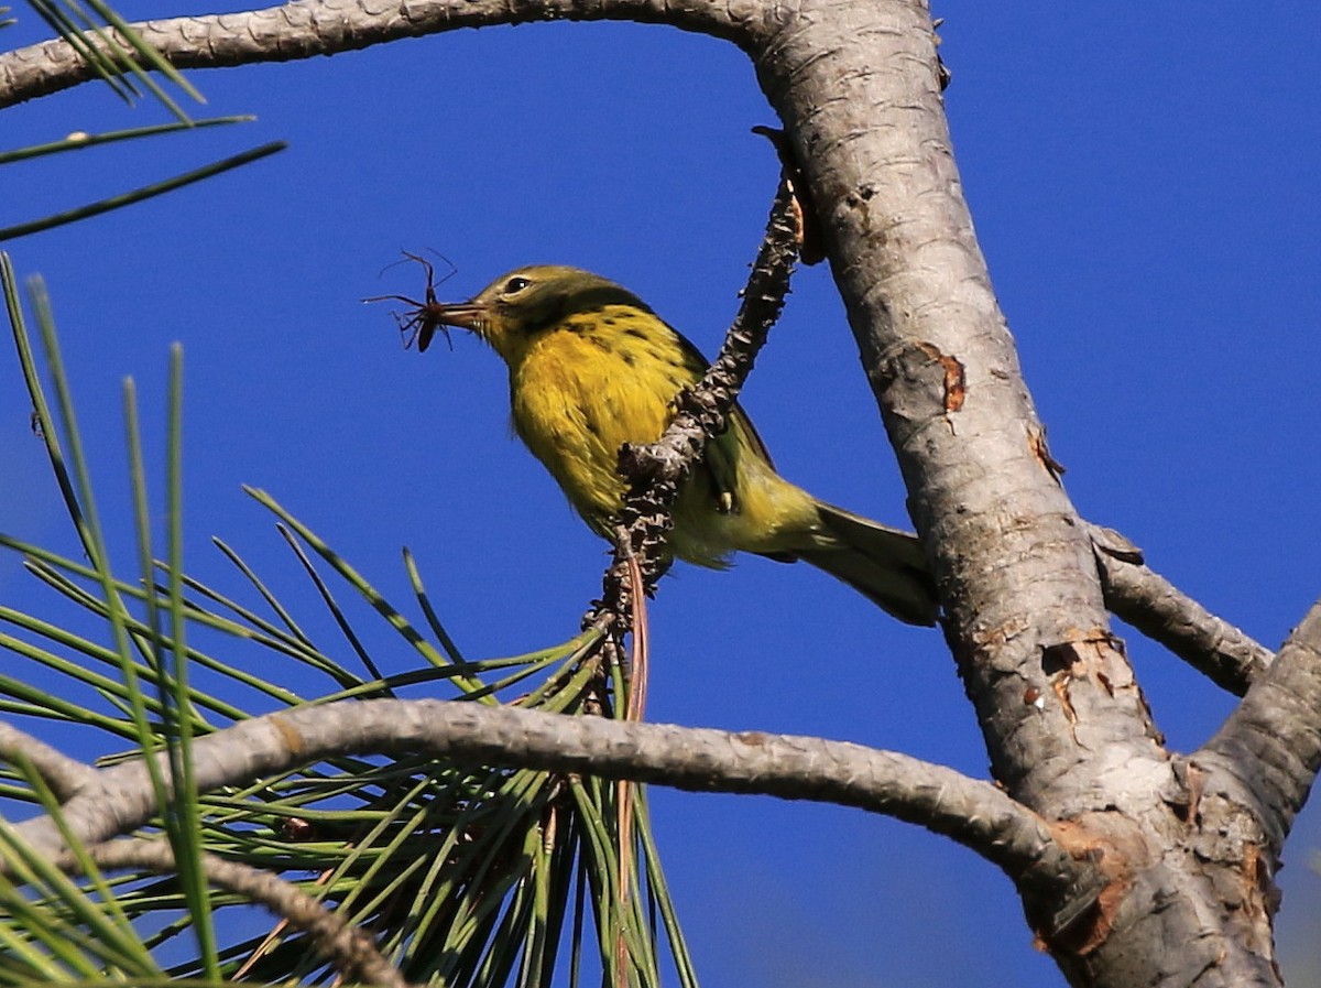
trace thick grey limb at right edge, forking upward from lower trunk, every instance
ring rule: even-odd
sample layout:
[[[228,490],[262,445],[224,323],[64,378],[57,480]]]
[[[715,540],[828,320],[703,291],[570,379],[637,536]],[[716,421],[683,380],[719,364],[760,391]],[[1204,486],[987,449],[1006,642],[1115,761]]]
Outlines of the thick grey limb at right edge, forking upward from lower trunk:
[[[1236,781],[1279,853],[1321,769],[1321,601],[1192,762]]]

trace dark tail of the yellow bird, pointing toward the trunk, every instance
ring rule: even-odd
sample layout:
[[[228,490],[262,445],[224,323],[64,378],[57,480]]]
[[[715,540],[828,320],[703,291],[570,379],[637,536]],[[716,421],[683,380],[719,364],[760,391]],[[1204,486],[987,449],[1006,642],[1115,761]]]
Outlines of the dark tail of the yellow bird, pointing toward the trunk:
[[[822,528],[834,538],[820,548],[794,549],[795,556],[843,580],[900,621],[935,623],[935,584],[915,535],[822,501],[816,510]]]

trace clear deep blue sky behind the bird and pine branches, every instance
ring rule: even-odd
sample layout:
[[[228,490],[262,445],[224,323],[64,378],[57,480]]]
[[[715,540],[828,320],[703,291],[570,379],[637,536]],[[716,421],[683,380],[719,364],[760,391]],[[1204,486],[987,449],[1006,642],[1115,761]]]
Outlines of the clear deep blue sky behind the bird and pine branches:
[[[44,36],[20,13],[7,48]],[[1279,643],[1321,590],[1321,8],[943,0],[935,13],[964,188],[1067,490]],[[12,166],[0,207],[17,222],[291,141],[205,186],[7,246],[49,284],[110,523],[128,507],[119,382],[136,376],[153,419],[181,341],[192,571],[238,588],[209,547],[219,534],[316,610],[239,491],[252,483],[399,600],[410,546],[470,654],[568,637],[602,544],[510,437],[503,367],[461,335],[453,353],[404,351],[388,312],[359,299],[420,291],[411,268],[379,273],[400,248],[453,260],[443,297],[519,264],[572,263],[713,351],[777,173],[749,133],[774,118],[745,57],[671,29],[556,24],[193,78],[209,112],[259,123]],[[3,141],[161,116],[85,86],[5,111]],[[823,267],[798,275],[745,406],[787,477],[904,520]],[[0,527],[70,549],[53,485],[33,479],[45,468],[28,411],[0,350]],[[29,584],[0,560],[0,597],[49,609]],[[815,571],[686,568],[651,623],[653,720],[826,734],[985,773],[939,635]],[[1127,641],[1170,745],[1196,746],[1229,699]],[[941,839],[770,799],[657,793],[654,808],[708,988],[1063,984],[1008,882]],[[1321,983],[1321,877],[1306,868],[1318,847],[1313,808],[1281,876],[1295,984]]]

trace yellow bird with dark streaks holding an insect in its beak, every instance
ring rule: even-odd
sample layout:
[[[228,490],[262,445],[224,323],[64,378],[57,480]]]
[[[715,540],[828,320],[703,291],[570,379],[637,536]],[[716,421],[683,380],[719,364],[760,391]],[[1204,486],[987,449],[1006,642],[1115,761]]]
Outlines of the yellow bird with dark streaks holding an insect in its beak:
[[[420,350],[448,326],[495,350],[509,369],[515,435],[606,539],[626,493],[621,446],[660,439],[675,398],[708,367],[637,295],[559,264],[515,268],[462,302],[436,301],[428,284],[427,304],[410,325]],[[917,536],[786,481],[737,404],[679,490],[668,552],[715,569],[727,568],[734,552],[803,560],[906,623],[934,625],[938,613]]]

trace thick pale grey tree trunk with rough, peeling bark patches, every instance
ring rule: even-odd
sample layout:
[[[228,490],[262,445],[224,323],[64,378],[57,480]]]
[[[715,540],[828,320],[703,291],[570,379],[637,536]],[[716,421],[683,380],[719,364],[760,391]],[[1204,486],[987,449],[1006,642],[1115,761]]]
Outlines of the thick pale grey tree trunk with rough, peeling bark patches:
[[[1209,812],[1205,779],[1165,750],[1110,631],[974,236],[925,5],[777,9],[753,57],[808,178],[992,771],[1111,881],[1046,946],[1078,985],[1279,984],[1277,841],[1258,835],[1305,798],[1316,709],[1295,721],[1312,744],[1288,785],[1251,799],[1232,781],[1256,777],[1259,752],[1236,750],[1234,770],[1213,773]],[[1038,929],[1042,905],[1026,900]]]

